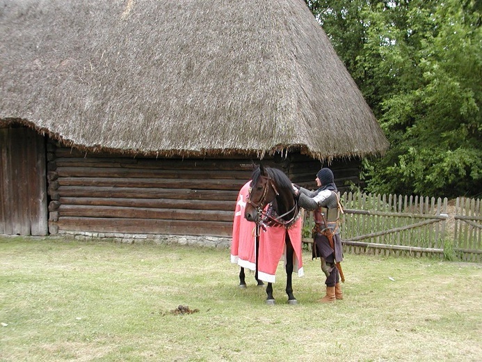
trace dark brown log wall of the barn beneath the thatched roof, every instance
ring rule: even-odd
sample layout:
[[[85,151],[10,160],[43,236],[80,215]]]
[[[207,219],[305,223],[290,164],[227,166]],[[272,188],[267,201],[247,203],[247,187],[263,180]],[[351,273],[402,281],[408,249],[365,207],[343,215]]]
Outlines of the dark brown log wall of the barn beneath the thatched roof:
[[[49,231],[231,237],[252,159],[138,158],[47,145]],[[320,162],[264,159],[313,187]],[[310,186],[311,185],[311,186]]]

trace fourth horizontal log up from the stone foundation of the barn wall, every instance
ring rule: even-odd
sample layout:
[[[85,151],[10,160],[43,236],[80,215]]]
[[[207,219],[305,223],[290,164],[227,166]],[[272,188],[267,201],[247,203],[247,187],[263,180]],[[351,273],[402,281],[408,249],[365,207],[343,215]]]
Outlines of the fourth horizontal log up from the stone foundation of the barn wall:
[[[61,186],[58,188],[58,194],[63,197],[169,198],[172,200],[225,200],[235,203],[239,191]],[[54,198],[54,194],[51,198]]]

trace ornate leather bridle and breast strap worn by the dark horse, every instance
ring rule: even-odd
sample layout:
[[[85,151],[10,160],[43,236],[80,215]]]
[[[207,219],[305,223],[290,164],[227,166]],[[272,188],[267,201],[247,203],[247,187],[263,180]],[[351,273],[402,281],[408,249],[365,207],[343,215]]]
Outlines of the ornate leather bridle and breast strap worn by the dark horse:
[[[289,228],[291,225],[293,225],[294,221],[298,220],[298,217],[300,216],[300,212],[299,212],[300,210],[299,210],[299,207],[298,207],[298,200],[295,199],[294,207],[292,207],[291,210],[289,210],[288,212],[285,212],[282,215],[278,215],[278,216],[275,215],[275,217],[273,217],[272,216],[273,213],[269,212],[273,207],[273,200],[266,203],[266,205],[270,205],[270,207],[268,207],[268,210],[266,210],[266,212],[263,210],[263,205],[266,201],[266,195],[268,194],[268,191],[269,191],[270,187],[275,192],[275,196],[279,196],[280,193],[278,192],[278,189],[276,189],[276,186],[275,186],[273,180],[269,176],[262,176],[261,175],[259,177],[267,179],[266,183],[264,184],[263,194],[262,194],[261,198],[259,199],[259,203],[257,203],[257,204],[253,203],[252,200],[251,200],[252,187],[250,187],[248,189],[248,198],[246,199],[246,203],[249,203],[252,207],[254,207],[255,210],[257,211],[257,214],[259,215],[258,220],[256,221],[257,225],[261,226],[264,230],[266,230],[266,222],[268,222],[268,224],[274,223],[274,224],[284,226],[285,228]],[[274,212],[274,210],[273,210],[273,212]],[[294,217],[292,217],[288,221],[282,219],[283,217],[287,216],[291,212],[294,212]]]

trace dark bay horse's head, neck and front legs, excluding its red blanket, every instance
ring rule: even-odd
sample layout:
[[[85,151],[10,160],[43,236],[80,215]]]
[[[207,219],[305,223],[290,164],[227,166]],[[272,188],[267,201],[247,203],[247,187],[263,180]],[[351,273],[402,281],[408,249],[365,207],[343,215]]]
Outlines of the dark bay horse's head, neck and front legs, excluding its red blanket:
[[[278,168],[259,165],[252,173],[244,217],[257,224],[257,228],[284,228],[284,246],[286,249],[286,292],[288,304],[298,304],[294,297],[291,276],[294,271],[295,250],[289,236],[289,228],[300,217],[300,207],[294,193],[291,180]],[[265,210],[266,205],[269,205]],[[268,240],[269,242],[269,240]],[[282,251],[281,251],[282,253]],[[300,251],[299,251],[300,253]],[[258,264],[257,264],[258,265]],[[266,304],[275,304],[273,284],[266,287]]]

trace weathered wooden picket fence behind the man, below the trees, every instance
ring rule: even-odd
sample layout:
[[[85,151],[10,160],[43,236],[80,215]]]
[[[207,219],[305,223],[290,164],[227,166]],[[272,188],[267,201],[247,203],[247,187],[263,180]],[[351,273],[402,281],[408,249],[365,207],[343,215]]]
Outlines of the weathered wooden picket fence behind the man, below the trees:
[[[482,261],[480,200],[345,193],[340,225],[345,253],[440,256]],[[450,211],[449,211],[450,210]],[[304,242],[312,242],[312,213]]]

